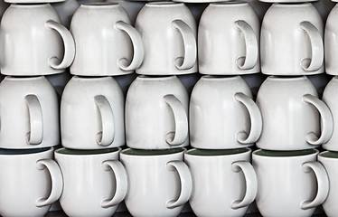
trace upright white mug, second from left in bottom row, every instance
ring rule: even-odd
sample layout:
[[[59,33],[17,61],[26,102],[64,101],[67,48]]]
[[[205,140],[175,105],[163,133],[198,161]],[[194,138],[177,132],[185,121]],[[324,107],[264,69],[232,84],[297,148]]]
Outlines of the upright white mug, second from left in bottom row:
[[[68,216],[112,216],[127,193],[127,174],[118,161],[119,147],[55,151],[63,176],[60,198]]]

